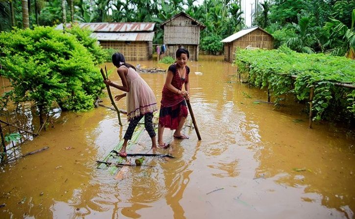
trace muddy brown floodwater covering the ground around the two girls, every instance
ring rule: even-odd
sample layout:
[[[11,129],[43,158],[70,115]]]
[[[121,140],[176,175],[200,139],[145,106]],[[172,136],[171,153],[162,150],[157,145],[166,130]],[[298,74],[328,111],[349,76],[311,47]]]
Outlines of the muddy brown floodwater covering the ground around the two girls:
[[[255,103],[267,100],[265,91],[237,82],[223,57],[200,59],[188,65],[202,141],[193,129],[185,129],[189,140],[166,130],[171,147],[158,152],[176,158],[147,158],[154,167],[126,168],[117,177],[95,161],[118,144],[125,115],[119,128],[116,112],[103,107],[62,112],[54,128],[21,146],[21,153],[48,150],[1,167],[0,218],[354,218],[354,130],[327,122],[308,129],[302,105]],[[166,75],[141,76],[160,102]],[[110,105],[107,95],[103,104]],[[125,101],[117,105],[126,108]],[[144,139],[130,150],[149,151]]]

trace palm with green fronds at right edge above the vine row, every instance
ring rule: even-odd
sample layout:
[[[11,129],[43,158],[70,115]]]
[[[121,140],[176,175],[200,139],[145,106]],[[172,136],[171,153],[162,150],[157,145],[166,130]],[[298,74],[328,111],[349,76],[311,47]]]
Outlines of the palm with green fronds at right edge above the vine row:
[[[355,9],[352,13],[352,23],[349,29],[344,23],[331,18],[323,27],[330,34],[329,41],[324,44],[325,52],[336,56],[346,56],[355,59]],[[328,49],[327,49],[328,48]]]

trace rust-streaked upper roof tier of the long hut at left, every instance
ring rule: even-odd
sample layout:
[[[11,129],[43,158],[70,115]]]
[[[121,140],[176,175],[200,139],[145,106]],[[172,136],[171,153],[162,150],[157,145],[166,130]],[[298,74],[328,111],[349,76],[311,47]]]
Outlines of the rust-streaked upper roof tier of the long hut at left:
[[[88,27],[93,32],[147,32],[153,31],[155,23],[78,23],[80,28]],[[67,28],[71,24],[67,23]],[[63,24],[59,24],[56,29],[63,29]]]

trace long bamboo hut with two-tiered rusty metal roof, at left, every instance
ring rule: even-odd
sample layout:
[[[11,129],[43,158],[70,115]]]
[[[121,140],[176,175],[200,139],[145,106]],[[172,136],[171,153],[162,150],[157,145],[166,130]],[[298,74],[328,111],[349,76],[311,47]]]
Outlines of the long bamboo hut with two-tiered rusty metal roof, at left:
[[[113,48],[122,53],[127,61],[145,61],[153,56],[155,23],[78,23],[89,28],[103,48]],[[67,24],[70,28],[71,24]],[[63,24],[57,26],[63,29]]]

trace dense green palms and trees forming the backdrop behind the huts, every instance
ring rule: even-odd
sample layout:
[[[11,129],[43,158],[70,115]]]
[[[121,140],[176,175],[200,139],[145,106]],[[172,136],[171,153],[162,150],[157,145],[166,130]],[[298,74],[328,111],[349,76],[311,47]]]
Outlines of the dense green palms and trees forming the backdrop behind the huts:
[[[63,10],[67,22],[155,22],[154,44],[163,43],[162,22],[180,11],[206,25],[200,48],[220,54],[224,39],[244,28],[241,0],[36,0],[29,3],[29,26],[57,25]],[[65,7],[62,8],[64,2]],[[73,7],[71,7],[73,2]],[[275,37],[275,48],[287,45],[305,53],[331,53],[355,58],[354,0],[256,0],[252,25]],[[0,30],[23,27],[21,1],[0,0]],[[11,8],[13,10],[11,10]],[[11,13],[13,11],[13,14]],[[71,13],[73,20],[71,20]],[[11,16],[13,15],[13,16]]]

